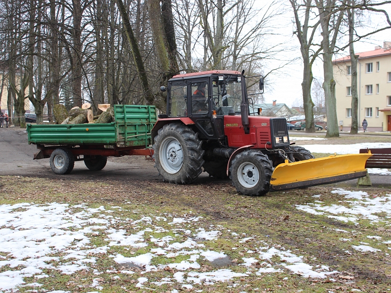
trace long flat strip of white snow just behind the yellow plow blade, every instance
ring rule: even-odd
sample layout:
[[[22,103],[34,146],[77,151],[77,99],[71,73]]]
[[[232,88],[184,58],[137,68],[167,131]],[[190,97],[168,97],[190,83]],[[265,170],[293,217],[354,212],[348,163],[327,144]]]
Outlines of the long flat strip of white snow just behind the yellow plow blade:
[[[300,145],[310,152],[349,154],[359,153],[364,148],[391,148],[391,143],[359,143],[350,145]]]

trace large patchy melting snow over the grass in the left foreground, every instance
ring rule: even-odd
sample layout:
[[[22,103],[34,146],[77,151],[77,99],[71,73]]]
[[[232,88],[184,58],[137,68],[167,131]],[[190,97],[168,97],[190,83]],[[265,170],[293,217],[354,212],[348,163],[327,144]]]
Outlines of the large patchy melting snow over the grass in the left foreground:
[[[118,268],[131,264],[121,271],[123,274],[134,274],[132,268],[135,267],[141,270],[141,274],[153,274],[166,267],[175,269],[176,273],[172,277],[158,280],[157,283],[176,281],[184,288],[191,288],[194,284],[208,285],[245,278],[250,274],[290,272],[303,277],[326,278],[327,275],[336,273],[332,270],[312,270],[315,263],[304,263],[303,256],[276,246],[270,238],[266,238],[266,242],[257,235],[246,237],[245,234],[227,231],[220,225],[202,228],[202,217],[191,214],[180,218],[164,215],[132,220],[107,216],[106,211],[103,206],[88,208],[86,205],[69,206],[59,203],[0,205],[0,253],[3,254],[0,255],[0,268],[4,271],[7,266],[6,271],[0,273],[0,292],[18,291],[17,288],[21,285],[39,287],[54,271],[73,275],[80,270],[87,270],[99,275],[102,272],[95,269],[98,255],[113,259],[118,263]],[[121,211],[118,209],[117,212]],[[171,229],[158,226],[160,221],[166,222]],[[132,228],[126,229],[121,223],[130,224]],[[232,265],[230,269],[215,268],[209,272],[198,272],[200,262],[229,259],[226,253],[214,251],[209,246],[224,231],[236,235],[233,245],[243,246],[245,251],[252,253],[252,257],[243,257],[242,262],[237,264],[237,268],[244,265],[248,272],[235,272],[236,265]],[[105,239],[106,245],[92,245],[95,236]],[[146,252],[131,257],[116,252],[108,255],[107,251],[111,246],[120,247],[124,252],[133,248],[143,248]],[[249,246],[258,248],[250,250]],[[173,262],[179,255],[186,256],[187,259]],[[152,264],[156,257],[159,257],[159,263]],[[271,257],[280,261],[273,259],[271,266],[265,261]],[[260,269],[252,272],[251,267],[256,263],[259,263]],[[26,284],[24,279],[33,276],[37,282]],[[138,278],[136,286],[153,285],[148,279],[151,278]],[[99,280],[95,278],[90,287],[101,290],[104,284],[100,284]]]

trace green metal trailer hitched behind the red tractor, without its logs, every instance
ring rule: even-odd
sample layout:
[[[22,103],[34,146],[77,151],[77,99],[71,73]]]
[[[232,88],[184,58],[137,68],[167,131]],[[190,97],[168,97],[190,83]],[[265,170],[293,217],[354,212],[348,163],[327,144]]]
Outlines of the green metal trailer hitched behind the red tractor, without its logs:
[[[27,124],[29,144],[39,151],[34,159],[50,158],[56,174],[69,174],[75,161],[102,170],[107,156],[152,157],[151,130],[157,121],[155,106],[114,105],[115,121],[85,124]]]

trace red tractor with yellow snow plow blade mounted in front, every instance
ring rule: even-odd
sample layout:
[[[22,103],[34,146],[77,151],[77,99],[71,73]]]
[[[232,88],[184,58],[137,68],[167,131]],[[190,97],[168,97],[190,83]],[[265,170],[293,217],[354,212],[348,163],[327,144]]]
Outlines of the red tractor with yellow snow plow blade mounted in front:
[[[252,77],[259,78],[263,93],[263,77]],[[166,181],[191,183],[204,169],[216,178],[230,176],[242,194],[259,196],[270,188],[292,189],[366,174],[361,164],[308,175],[323,163],[310,151],[291,145],[285,118],[263,117],[262,109],[255,111],[244,70],[179,74],[161,90],[167,91],[167,109],[152,129],[152,142],[156,167]],[[343,161],[351,160],[348,156]],[[313,164],[293,163],[305,160]],[[336,166],[341,164],[337,161]],[[277,166],[281,172],[274,176]],[[305,177],[297,179],[295,173],[303,170]]]

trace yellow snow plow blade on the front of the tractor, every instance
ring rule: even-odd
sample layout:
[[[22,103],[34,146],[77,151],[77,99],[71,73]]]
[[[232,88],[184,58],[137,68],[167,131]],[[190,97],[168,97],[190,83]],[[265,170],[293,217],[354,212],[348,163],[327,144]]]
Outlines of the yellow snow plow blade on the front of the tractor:
[[[273,190],[288,190],[365,177],[365,163],[371,153],[330,155],[285,163],[275,167],[270,185]]]

